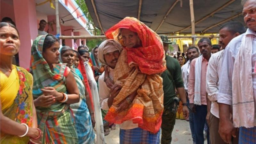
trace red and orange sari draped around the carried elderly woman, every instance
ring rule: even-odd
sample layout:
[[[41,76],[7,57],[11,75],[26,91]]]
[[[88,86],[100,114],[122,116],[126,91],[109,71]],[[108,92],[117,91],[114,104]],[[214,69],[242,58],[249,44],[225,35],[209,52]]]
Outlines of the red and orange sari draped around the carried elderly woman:
[[[164,67],[164,49],[160,37],[145,24],[135,18],[126,17],[106,32],[108,39],[115,38],[119,28],[128,28],[138,33],[142,42],[139,48],[124,48],[114,74],[115,84],[122,89],[113,101],[105,119],[121,124],[132,120],[139,127],[150,132],[159,131],[163,113],[163,81],[160,73]],[[122,41],[119,41],[122,45]],[[135,65],[134,65],[135,64]],[[129,108],[117,113],[117,105],[132,92],[137,95]]]

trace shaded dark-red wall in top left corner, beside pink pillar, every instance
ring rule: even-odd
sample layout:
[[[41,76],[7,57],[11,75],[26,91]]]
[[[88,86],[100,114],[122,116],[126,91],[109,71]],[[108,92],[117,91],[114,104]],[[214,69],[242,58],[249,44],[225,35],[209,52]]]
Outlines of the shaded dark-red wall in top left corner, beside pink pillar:
[[[9,1],[12,1],[12,0],[9,0]],[[9,17],[12,19],[12,21],[15,22],[13,5],[8,4],[3,0],[0,1],[0,5],[1,5],[0,6],[0,19],[2,20],[4,17]]]

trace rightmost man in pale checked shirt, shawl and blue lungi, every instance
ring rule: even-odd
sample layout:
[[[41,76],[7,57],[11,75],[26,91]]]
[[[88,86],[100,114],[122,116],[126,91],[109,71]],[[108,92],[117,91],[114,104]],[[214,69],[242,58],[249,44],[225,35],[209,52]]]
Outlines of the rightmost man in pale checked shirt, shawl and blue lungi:
[[[236,128],[239,128],[239,143],[251,144],[256,141],[255,0],[245,2],[243,15],[248,29],[244,34],[232,39],[225,49],[217,100],[220,116],[219,132],[222,140],[231,143],[232,136],[236,137]],[[230,120],[229,114],[231,108],[233,121]]]

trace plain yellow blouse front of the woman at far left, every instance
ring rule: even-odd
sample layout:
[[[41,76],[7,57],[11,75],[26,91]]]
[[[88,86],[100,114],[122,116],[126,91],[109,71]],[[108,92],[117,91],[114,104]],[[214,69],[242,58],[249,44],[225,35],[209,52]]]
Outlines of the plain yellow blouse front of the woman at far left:
[[[15,65],[9,77],[0,71],[0,98],[2,110],[9,108],[14,102],[20,88],[19,76]]]

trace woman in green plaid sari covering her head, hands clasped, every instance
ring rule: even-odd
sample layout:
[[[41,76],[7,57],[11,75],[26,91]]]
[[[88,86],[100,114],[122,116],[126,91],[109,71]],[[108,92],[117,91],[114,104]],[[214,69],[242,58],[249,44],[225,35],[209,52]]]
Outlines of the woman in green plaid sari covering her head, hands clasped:
[[[58,64],[59,40],[38,36],[31,49],[33,96],[43,143],[78,143],[69,105],[79,102],[76,80],[67,64]]]

